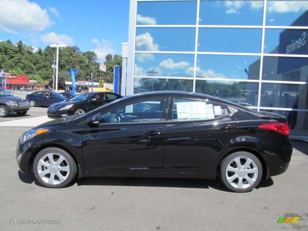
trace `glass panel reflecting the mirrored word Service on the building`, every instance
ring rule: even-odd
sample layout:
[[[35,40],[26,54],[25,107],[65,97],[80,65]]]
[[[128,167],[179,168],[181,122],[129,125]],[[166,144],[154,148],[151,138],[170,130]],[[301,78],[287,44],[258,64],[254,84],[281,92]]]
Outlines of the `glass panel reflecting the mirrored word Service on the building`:
[[[266,29],[264,52],[308,55],[308,29]]]

